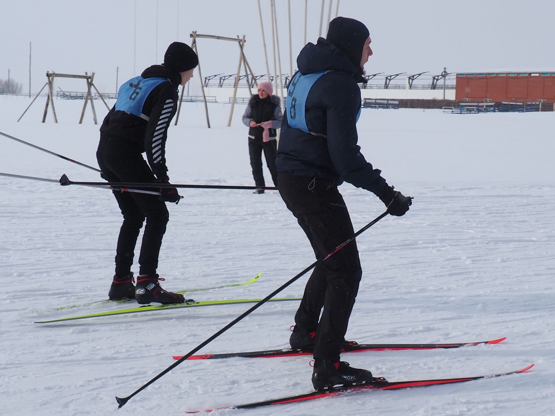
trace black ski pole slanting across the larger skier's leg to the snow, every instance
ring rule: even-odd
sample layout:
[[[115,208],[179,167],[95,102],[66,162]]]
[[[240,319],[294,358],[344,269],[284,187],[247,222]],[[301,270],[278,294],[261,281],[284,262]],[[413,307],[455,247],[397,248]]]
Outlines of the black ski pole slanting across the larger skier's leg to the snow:
[[[196,346],[195,348],[191,349],[191,351],[189,351],[188,353],[186,353],[183,357],[181,357],[178,361],[176,361],[175,363],[171,364],[171,366],[169,366],[168,368],[166,368],[162,373],[158,374],[158,376],[154,377],[152,380],[150,380],[148,383],[143,384],[142,387],[138,388],[137,390],[135,390],[132,394],[128,395],[127,397],[116,397],[115,399],[117,400],[119,406],[118,409],[123,407],[125,405],[125,403],[127,403],[129,401],[130,398],[132,398],[135,394],[139,393],[141,390],[147,388],[150,384],[154,383],[155,381],[157,381],[160,377],[164,376],[164,374],[170,372],[172,369],[174,369],[175,367],[179,366],[179,364],[181,364],[182,362],[184,362],[187,358],[189,358],[190,356],[192,356],[195,352],[199,351],[200,348],[206,346],[207,344],[209,344],[211,341],[214,341],[214,339],[218,338],[221,334],[223,334],[225,331],[227,331],[229,328],[233,327],[236,323],[238,323],[239,321],[241,321],[241,319],[243,319],[244,317],[246,317],[247,315],[249,315],[251,312],[255,311],[256,309],[258,309],[260,306],[262,306],[264,303],[266,303],[268,300],[270,300],[270,298],[274,297],[275,295],[277,295],[279,292],[281,292],[282,290],[284,290],[287,286],[291,285],[291,283],[295,282],[299,277],[301,277],[302,275],[304,275],[306,272],[312,270],[312,268],[316,267],[316,265],[318,263],[321,263],[322,261],[326,260],[326,258],[334,255],[337,251],[341,250],[341,248],[345,247],[347,244],[349,244],[351,241],[355,240],[356,237],[358,237],[359,235],[361,235],[363,232],[365,232],[367,229],[369,229],[372,225],[376,224],[376,222],[380,221],[383,217],[385,217],[386,215],[388,215],[389,212],[385,211],[384,214],[381,214],[379,217],[377,217],[375,220],[372,220],[371,222],[369,222],[368,224],[366,224],[364,227],[362,227],[359,231],[355,232],[355,235],[352,236],[349,240],[346,240],[344,242],[342,242],[339,246],[335,247],[334,250],[330,251],[326,256],[319,258],[318,260],[316,260],[314,263],[312,263],[310,266],[308,266],[307,268],[305,268],[305,270],[303,270],[302,272],[300,272],[298,275],[296,275],[295,277],[291,278],[291,280],[289,280],[288,282],[284,283],[283,285],[281,285],[279,288],[277,288],[275,291],[273,291],[272,293],[270,293],[270,295],[266,296],[263,300],[261,300],[260,302],[256,303],[256,305],[254,305],[253,307],[251,307],[249,310],[247,310],[246,312],[242,313],[240,316],[236,317],[235,319],[233,319],[233,321],[231,321],[230,323],[228,323],[225,327],[221,328],[218,332],[216,332],[213,336],[205,339],[205,341],[201,342],[198,346]]]

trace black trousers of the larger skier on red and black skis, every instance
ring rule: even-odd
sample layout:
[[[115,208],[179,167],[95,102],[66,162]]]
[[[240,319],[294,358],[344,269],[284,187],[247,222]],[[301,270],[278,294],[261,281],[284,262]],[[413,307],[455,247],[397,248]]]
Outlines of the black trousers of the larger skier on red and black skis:
[[[349,211],[334,181],[280,173],[278,187],[316,258],[324,257],[354,236]],[[295,324],[300,329],[316,329],[314,358],[339,361],[361,276],[356,241],[312,271],[295,314]]]

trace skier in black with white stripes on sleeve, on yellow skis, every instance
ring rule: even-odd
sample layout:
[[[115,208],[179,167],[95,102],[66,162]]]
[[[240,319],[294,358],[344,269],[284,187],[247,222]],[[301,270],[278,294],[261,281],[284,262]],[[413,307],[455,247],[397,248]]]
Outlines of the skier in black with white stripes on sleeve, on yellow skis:
[[[193,77],[199,60],[188,45],[169,45],[162,65],[153,65],[123,83],[118,100],[100,127],[97,160],[110,182],[169,184],[165,144],[178,103],[178,87]],[[147,154],[147,161],[142,153]],[[181,303],[183,295],[160,287],[156,269],[169,214],[165,201],[179,202],[175,188],[160,188],[160,196],[114,191],[123,214],[115,256],[110,300],[135,298],[139,303]],[[134,249],[144,220],[137,287],[131,271]]]

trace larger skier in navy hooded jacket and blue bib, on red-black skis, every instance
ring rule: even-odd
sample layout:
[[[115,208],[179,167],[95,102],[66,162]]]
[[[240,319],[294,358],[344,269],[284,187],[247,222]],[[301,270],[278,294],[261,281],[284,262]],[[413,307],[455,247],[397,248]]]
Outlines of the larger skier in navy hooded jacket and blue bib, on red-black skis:
[[[393,191],[357,146],[361,108],[357,83],[366,82],[362,68],[372,55],[370,42],[364,24],[335,18],[326,39],[319,38],[317,44],[308,43],[301,50],[299,71],[287,88],[276,160],[278,187],[316,258],[354,235],[337,190],[343,181],[379,196],[391,215],[401,216],[411,205],[410,197]],[[314,348],[312,384],[316,389],[373,380],[370,371],[340,362],[361,276],[356,241],[351,241],[319,263],[306,284],[290,344],[294,349]]]

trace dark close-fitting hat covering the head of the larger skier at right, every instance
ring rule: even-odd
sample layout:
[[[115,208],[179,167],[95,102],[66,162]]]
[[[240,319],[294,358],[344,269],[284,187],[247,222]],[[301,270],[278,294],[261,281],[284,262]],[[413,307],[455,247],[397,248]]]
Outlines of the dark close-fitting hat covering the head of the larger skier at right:
[[[358,69],[362,59],[362,48],[369,36],[370,32],[364,23],[348,17],[336,17],[330,22],[326,40],[347,55]]]

